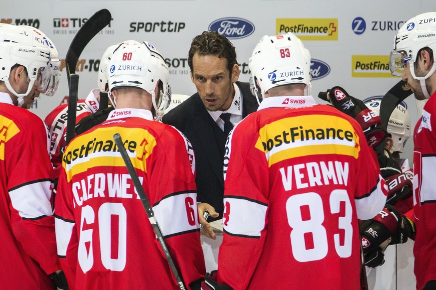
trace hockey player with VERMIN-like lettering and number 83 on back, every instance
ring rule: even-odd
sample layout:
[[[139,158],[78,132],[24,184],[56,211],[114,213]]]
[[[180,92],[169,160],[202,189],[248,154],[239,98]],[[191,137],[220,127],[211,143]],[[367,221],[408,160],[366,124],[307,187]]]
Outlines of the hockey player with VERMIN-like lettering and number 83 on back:
[[[360,289],[358,218],[383,208],[386,184],[359,124],[305,95],[310,60],[290,32],[249,60],[263,101],[224,158],[217,282],[233,289]]]

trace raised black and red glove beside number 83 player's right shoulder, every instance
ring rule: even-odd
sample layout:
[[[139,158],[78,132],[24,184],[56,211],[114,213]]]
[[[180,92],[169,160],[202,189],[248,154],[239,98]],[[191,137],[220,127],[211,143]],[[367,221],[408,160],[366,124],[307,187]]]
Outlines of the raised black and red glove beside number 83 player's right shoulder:
[[[365,133],[368,145],[374,148],[377,145],[384,146],[386,131],[382,127],[382,119],[380,119],[377,113],[368,109],[361,100],[350,96],[341,87],[333,87],[326,92],[320,92],[318,97],[330,102],[339,111],[356,119]]]

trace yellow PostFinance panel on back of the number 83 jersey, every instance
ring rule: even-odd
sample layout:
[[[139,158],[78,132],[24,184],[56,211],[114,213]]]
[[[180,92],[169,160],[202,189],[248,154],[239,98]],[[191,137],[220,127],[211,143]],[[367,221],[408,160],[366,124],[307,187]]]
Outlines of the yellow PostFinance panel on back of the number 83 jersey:
[[[328,119],[327,119],[328,118]],[[359,137],[340,117],[307,115],[284,118],[259,130],[256,148],[265,152],[268,165],[293,157],[343,154],[358,157]]]

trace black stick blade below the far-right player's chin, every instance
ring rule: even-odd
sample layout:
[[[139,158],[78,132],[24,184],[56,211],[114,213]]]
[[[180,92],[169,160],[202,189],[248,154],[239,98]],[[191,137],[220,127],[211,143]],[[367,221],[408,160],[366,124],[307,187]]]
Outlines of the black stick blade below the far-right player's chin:
[[[407,87],[407,83],[401,80],[383,96],[380,104],[380,118],[382,119],[382,127],[385,130],[388,128],[389,118],[394,109],[412,95],[412,91]]]

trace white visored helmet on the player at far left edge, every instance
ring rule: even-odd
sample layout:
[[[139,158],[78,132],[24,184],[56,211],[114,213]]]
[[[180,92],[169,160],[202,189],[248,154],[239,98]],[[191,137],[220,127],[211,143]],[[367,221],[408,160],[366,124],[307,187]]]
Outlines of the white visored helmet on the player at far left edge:
[[[33,27],[23,25],[0,25],[0,81],[23,104],[35,81],[45,90],[51,77],[51,51],[43,36]],[[17,93],[9,83],[12,67],[22,65],[27,70],[29,84],[25,93]]]

